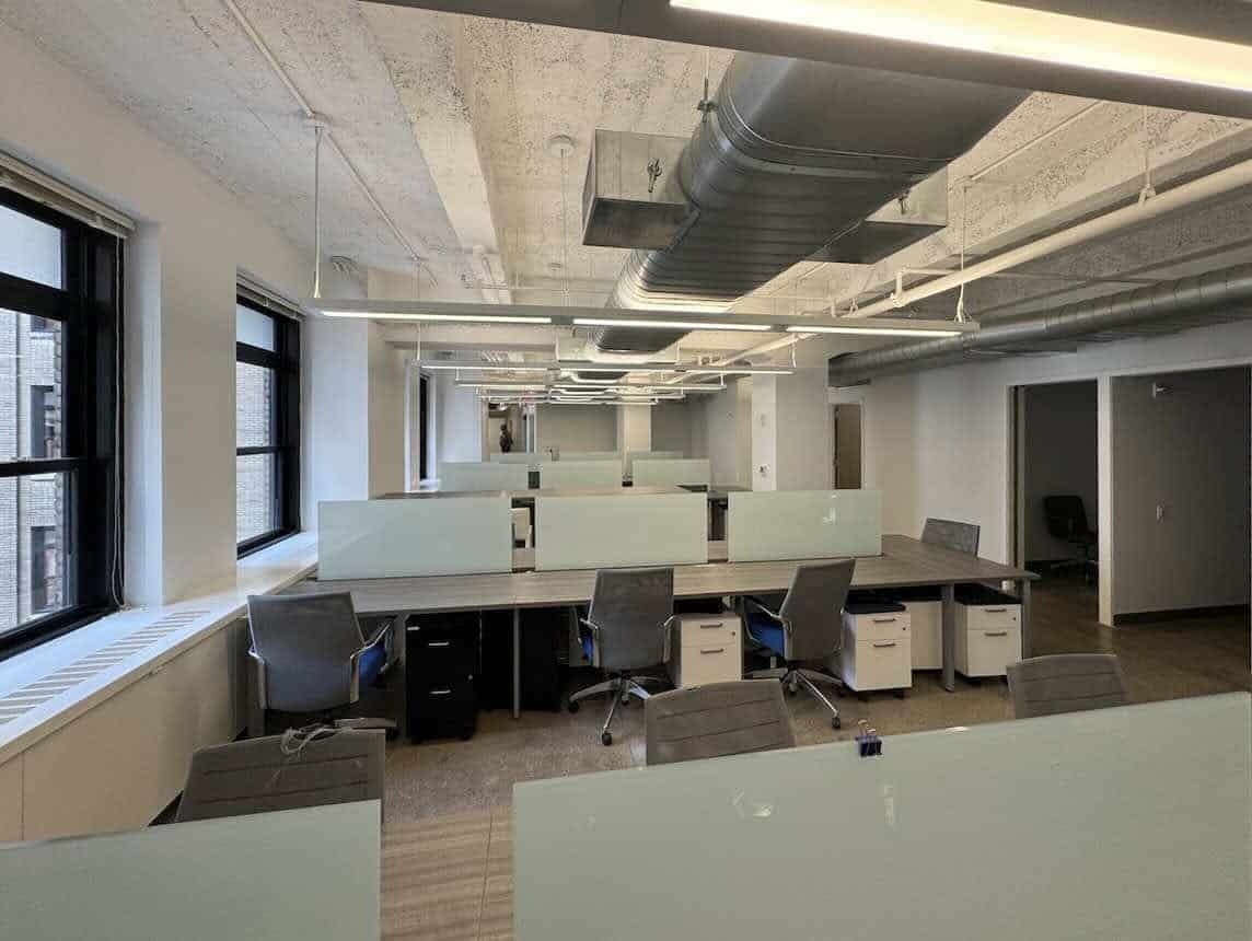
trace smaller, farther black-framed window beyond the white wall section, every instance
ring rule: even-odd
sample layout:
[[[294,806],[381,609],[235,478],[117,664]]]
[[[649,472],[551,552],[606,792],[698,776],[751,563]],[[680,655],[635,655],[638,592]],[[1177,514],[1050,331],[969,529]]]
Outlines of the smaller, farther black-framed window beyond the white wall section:
[[[300,528],[300,333],[235,305],[235,541],[245,556]]]

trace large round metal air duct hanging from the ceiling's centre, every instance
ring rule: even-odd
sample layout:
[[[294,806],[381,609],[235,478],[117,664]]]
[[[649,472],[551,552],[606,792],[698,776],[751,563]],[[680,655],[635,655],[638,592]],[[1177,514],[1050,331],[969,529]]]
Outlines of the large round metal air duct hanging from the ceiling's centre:
[[[634,243],[608,307],[724,309],[809,258],[890,255],[947,224],[945,168],[1025,94],[739,53],[677,173],[660,168],[657,193],[639,201],[654,221],[657,201],[685,204],[686,218],[667,248]],[[613,209],[629,231],[629,205]],[[602,352],[652,353],[684,333],[606,327],[593,340]]]

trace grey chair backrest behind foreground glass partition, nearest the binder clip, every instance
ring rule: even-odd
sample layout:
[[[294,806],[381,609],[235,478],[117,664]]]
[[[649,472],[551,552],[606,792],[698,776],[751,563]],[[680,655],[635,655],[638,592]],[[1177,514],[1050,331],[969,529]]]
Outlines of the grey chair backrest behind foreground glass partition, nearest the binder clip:
[[[760,679],[692,686],[644,703],[647,763],[791,748],[782,684]]]

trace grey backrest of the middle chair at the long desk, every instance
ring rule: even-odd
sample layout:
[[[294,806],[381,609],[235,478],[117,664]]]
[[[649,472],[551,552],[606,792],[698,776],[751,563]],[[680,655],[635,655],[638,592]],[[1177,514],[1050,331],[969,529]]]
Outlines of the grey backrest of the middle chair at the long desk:
[[[600,666],[642,669],[665,659],[665,622],[674,613],[672,568],[596,572],[587,619],[600,627]]]

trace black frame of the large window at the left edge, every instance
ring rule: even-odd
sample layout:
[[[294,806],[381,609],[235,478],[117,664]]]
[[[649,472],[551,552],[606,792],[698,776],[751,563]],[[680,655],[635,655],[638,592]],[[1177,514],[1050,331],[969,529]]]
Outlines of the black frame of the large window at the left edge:
[[[61,574],[74,599],[0,633],[4,659],[120,607],[124,245],[116,235],[4,188],[0,205],[64,235],[60,288],[0,272],[0,309],[59,322],[63,343],[60,455],[0,460],[0,478],[65,474]]]

